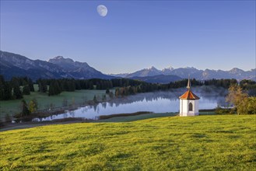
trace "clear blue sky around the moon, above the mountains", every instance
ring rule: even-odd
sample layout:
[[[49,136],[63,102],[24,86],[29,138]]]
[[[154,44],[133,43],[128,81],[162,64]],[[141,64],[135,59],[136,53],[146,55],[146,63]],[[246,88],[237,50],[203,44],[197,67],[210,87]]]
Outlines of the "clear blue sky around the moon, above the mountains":
[[[107,7],[100,16],[98,5]],[[106,74],[255,68],[255,1],[1,0],[1,50]]]

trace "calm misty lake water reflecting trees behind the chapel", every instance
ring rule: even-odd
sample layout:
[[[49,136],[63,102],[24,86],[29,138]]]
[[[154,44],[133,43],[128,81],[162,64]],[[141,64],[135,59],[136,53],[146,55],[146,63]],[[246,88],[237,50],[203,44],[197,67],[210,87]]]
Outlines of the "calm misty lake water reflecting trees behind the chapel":
[[[134,96],[127,96],[121,99],[114,99],[111,102],[100,103],[94,106],[85,106],[77,110],[66,111],[58,115],[45,118],[35,118],[34,121],[56,120],[67,117],[83,117],[97,119],[100,115],[115,113],[135,113],[138,111],[149,111],[153,113],[167,113],[179,111],[179,99],[186,89],[174,89],[167,92],[147,92]],[[192,89],[200,97],[199,109],[213,109],[216,106],[227,106],[225,102],[225,89],[213,89],[200,87]]]

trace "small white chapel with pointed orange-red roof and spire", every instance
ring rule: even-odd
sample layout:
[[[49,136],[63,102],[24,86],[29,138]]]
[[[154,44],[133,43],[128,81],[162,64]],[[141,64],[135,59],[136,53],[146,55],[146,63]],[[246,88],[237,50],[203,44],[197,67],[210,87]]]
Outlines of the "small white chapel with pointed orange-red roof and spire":
[[[198,116],[199,97],[191,91],[191,83],[188,79],[187,92],[180,96],[180,116]]]

